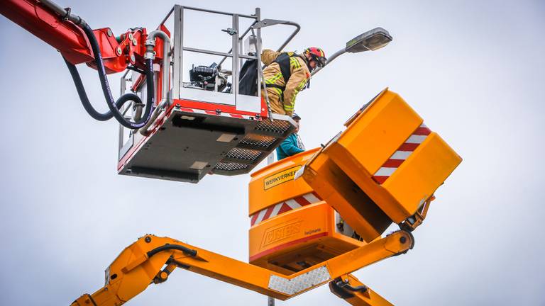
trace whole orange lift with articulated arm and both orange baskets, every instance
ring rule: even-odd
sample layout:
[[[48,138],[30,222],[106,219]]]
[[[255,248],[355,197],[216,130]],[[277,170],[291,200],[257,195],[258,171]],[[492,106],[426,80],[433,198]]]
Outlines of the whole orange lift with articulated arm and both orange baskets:
[[[121,305],[175,268],[279,300],[329,283],[351,305],[390,305],[350,273],[412,249],[461,158],[388,89],[345,125],[325,147],[252,174],[249,263],[147,234],[106,269],[103,288],[72,305]],[[400,230],[382,236],[392,223]]]

